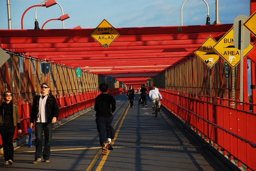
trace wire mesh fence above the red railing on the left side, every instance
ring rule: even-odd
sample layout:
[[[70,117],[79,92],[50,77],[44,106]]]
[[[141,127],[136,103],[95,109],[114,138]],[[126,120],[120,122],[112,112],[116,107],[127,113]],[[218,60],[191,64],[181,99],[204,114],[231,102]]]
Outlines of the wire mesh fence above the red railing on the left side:
[[[58,97],[70,96],[79,91],[98,90],[99,84],[105,83],[104,76],[83,72],[81,77],[77,77],[74,68],[9,55],[9,60],[0,67],[0,91],[12,91],[15,99],[23,100],[21,103],[32,102],[32,98],[41,91],[41,84],[45,82],[49,83],[50,92],[58,94]]]

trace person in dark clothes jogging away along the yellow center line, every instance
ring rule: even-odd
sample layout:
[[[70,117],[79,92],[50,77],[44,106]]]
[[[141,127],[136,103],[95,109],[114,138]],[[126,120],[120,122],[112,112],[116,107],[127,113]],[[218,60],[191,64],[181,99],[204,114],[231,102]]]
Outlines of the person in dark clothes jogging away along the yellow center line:
[[[99,90],[102,93],[95,99],[94,110],[102,155],[106,155],[107,150],[113,150],[111,140],[115,137],[115,131],[111,124],[114,118],[112,113],[116,110],[116,100],[108,94],[108,84],[100,84]]]

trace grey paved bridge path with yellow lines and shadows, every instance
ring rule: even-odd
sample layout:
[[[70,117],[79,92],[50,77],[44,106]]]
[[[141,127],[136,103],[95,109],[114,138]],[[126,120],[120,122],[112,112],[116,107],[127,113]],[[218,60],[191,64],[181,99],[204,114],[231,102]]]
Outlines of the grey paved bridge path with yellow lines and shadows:
[[[148,97],[147,97],[148,98]],[[1,171],[229,171],[172,114],[158,117],[125,94],[115,97],[113,151],[101,154],[93,109],[53,130],[50,162],[33,164],[35,147],[15,149],[14,164]],[[4,163],[4,157],[0,157]]]

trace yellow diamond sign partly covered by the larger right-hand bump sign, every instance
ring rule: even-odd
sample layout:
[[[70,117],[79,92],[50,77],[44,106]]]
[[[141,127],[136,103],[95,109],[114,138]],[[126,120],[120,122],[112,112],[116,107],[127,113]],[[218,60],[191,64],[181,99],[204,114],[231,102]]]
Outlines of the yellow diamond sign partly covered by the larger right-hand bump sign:
[[[220,56],[215,52],[213,46],[217,42],[212,38],[208,37],[207,40],[195,51],[195,54],[200,57],[203,62],[212,68],[214,64],[219,60]]]

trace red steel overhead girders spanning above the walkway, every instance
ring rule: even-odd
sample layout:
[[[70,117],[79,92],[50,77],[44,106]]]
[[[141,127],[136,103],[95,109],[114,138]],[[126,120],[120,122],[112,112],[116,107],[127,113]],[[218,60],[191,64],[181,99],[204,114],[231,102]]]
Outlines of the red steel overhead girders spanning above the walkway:
[[[231,27],[116,28],[120,36],[107,49],[90,36],[93,29],[0,30],[0,47],[140,86],[147,78],[195,57],[194,51],[209,36],[218,40]]]

